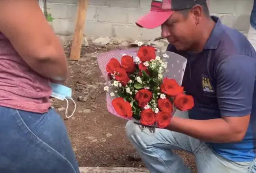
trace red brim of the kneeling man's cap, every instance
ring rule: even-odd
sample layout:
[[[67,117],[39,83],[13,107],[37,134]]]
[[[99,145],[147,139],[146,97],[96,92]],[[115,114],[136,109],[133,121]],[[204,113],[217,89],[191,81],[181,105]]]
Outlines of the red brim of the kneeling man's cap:
[[[145,16],[140,17],[136,25],[147,29],[154,29],[161,26],[174,14],[174,11],[149,11]]]

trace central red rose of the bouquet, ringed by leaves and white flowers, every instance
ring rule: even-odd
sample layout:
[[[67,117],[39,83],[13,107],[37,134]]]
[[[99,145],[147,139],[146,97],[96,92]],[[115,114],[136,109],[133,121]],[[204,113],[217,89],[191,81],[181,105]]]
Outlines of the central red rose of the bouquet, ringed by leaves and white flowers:
[[[135,95],[135,100],[138,102],[139,107],[144,108],[151,100],[152,93],[147,89],[138,90]]]

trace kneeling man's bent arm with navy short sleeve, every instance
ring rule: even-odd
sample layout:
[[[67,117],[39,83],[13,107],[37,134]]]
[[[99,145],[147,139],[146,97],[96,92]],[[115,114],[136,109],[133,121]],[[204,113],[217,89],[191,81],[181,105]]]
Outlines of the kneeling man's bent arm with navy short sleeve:
[[[215,72],[222,118],[190,120],[174,117],[168,130],[215,143],[238,142],[244,138],[252,109],[256,60],[247,56],[229,57]]]

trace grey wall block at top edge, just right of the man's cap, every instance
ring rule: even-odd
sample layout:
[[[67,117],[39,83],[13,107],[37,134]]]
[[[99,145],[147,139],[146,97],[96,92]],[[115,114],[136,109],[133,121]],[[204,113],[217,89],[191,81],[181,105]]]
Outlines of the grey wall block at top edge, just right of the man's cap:
[[[210,13],[235,14],[237,0],[211,0]]]

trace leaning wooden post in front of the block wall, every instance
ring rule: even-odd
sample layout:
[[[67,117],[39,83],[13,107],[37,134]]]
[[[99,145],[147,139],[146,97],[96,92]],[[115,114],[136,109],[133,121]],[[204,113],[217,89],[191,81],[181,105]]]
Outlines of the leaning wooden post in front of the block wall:
[[[70,59],[74,61],[78,61],[80,58],[88,1],[89,0],[78,0],[75,29],[70,54]]]

